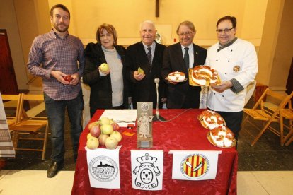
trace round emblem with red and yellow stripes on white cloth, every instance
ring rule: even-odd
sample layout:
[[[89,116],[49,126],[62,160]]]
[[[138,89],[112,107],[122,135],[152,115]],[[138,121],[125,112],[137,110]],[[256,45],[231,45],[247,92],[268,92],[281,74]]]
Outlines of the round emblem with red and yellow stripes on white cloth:
[[[188,155],[181,162],[180,170],[188,179],[199,179],[209,171],[209,160],[202,154]]]

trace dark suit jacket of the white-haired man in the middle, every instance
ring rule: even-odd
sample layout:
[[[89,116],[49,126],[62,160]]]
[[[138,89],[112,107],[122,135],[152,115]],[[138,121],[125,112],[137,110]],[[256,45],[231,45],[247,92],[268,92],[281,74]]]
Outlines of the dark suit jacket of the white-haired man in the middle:
[[[134,45],[127,47],[125,54],[125,66],[127,67],[127,78],[133,83],[132,102],[134,108],[137,107],[137,102],[153,102],[153,107],[156,107],[156,85],[155,78],[159,78],[159,107],[162,107],[161,98],[166,98],[166,83],[163,82],[161,77],[161,69],[163,65],[163,51],[165,45],[156,43],[154,51],[154,58],[152,61],[151,69],[149,61],[146,57],[144,45],[142,42],[137,42]],[[142,81],[134,79],[133,73],[138,68],[144,70],[146,76]]]

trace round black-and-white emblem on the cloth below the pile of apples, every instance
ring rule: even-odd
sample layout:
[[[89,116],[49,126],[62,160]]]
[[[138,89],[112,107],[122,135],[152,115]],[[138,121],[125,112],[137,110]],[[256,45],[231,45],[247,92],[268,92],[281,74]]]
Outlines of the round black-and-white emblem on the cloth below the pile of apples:
[[[91,175],[100,182],[110,182],[118,174],[117,164],[107,156],[98,156],[89,163]]]

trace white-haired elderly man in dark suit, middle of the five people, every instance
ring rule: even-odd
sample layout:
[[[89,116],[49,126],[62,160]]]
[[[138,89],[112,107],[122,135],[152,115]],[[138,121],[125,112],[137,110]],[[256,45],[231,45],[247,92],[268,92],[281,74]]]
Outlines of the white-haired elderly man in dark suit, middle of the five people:
[[[159,108],[166,102],[166,83],[161,77],[163,64],[163,51],[165,45],[155,42],[156,28],[152,21],[145,20],[140,25],[141,42],[127,47],[125,65],[127,78],[133,83],[132,103],[137,107],[137,102],[153,102],[156,108],[155,78],[159,78]],[[144,71],[138,71],[141,69]]]

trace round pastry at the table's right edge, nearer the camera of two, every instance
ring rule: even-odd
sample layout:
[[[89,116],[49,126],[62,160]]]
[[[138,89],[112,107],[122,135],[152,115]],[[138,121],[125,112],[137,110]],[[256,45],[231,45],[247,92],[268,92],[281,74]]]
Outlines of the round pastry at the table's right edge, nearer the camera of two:
[[[229,148],[232,144],[234,145],[235,139],[233,132],[226,126],[214,128],[209,134],[212,138],[212,142],[219,147]]]

